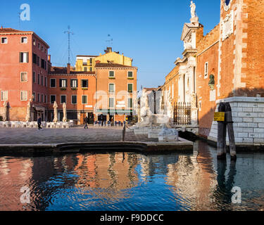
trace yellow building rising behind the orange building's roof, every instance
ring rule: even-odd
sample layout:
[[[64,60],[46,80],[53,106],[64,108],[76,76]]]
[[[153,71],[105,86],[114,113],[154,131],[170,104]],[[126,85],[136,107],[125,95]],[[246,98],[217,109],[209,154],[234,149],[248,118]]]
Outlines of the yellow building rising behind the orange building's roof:
[[[124,56],[119,52],[112,51],[111,47],[105,50],[105,53],[100,56],[77,56],[75,63],[75,71],[95,71],[96,63],[115,63],[120,65],[132,66],[132,58]]]

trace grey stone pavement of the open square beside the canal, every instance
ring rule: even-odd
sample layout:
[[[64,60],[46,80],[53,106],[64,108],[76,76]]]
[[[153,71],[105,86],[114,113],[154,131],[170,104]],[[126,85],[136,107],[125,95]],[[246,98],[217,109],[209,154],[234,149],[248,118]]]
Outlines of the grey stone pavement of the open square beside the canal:
[[[75,143],[121,141],[122,127],[73,127],[70,129],[0,128],[0,144]],[[127,129],[125,141],[158,142]]]

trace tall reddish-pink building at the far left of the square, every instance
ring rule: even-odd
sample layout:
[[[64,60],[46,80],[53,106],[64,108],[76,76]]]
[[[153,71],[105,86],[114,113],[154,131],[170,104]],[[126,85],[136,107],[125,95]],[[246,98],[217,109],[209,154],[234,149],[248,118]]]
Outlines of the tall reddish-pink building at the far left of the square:
[[[0,115],[8,102],[8,120],[25,120],[32,102],[32,119],[47,115],[49,45],[34,32],[0,28]]]

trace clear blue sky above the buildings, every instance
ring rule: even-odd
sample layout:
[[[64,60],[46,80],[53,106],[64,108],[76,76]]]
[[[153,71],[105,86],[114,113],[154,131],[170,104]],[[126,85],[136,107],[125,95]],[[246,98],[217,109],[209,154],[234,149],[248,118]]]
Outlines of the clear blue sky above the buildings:
[[[194,0],[204,33],[219,23],[220,0]],[[20,5],[29,4],[30,21],[18,22]],[[189,23],[189,0],[25,0],[3,1],[0,8],[0,25],[20,30],[32,30],[50,46],[53,65],[65,66],[68,62],[70,29],[71,63],[81,54],[104,53],[108,34],[113,38],[113,51],[133,58],[139,68],[140,86],[163,85],[165,75],[174,68],[183,51],[182,27]]]

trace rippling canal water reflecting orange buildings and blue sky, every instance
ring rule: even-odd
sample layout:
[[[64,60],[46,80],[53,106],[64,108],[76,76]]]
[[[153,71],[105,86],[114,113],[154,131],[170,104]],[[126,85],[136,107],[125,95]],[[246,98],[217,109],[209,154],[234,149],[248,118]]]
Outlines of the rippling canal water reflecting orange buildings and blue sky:
[[[218,162],[202,141],[190,154],[1,156],[0,210],[264,210],[263,172],[264,154]]]

